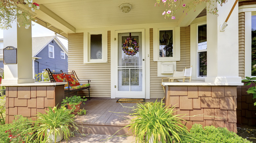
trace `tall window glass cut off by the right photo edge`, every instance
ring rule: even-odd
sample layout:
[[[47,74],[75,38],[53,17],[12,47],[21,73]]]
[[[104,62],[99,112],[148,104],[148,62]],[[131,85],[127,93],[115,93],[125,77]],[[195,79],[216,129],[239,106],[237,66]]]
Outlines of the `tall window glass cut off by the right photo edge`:
[[[256,16],[251,17],[251,75],[256,76]]]

